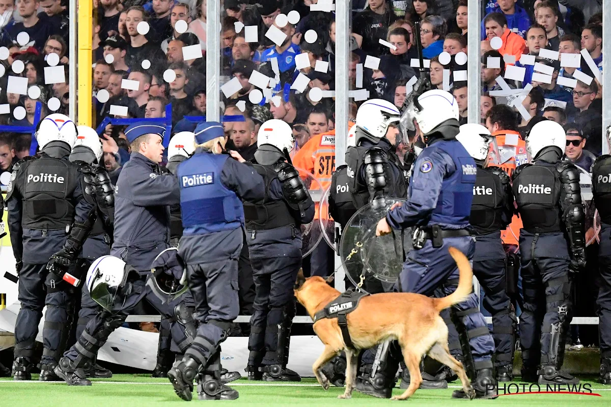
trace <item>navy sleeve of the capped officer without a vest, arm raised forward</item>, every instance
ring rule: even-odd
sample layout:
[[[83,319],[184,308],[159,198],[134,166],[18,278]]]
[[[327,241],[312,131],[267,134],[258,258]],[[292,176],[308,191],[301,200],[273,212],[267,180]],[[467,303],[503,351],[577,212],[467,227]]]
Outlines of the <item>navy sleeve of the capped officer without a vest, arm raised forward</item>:
[[[174,205],[180,203],[180,188],[178,179],[168,173],[157,175],[142,167],[132,167],[128,187],[130,195],[136,206]],[[125,171],[122,171],[125,172]]]

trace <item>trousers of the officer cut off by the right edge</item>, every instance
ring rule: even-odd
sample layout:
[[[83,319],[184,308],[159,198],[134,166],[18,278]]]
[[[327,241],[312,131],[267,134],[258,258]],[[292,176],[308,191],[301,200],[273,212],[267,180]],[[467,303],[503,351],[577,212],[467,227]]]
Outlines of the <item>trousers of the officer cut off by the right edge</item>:
[[[611,358],[611,225],[602,223],[599,248],[598,305],[601,358]]]

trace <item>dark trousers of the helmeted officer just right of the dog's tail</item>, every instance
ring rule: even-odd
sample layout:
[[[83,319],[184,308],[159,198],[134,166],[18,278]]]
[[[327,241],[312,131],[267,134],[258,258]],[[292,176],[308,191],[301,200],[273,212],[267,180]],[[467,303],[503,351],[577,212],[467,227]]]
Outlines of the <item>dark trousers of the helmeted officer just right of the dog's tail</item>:
[[[475,237],[473,273],[484,290],[482,305],[492,315],[495,364],[513,362],[517,319],[507,295],[507,267],[500,231]]]

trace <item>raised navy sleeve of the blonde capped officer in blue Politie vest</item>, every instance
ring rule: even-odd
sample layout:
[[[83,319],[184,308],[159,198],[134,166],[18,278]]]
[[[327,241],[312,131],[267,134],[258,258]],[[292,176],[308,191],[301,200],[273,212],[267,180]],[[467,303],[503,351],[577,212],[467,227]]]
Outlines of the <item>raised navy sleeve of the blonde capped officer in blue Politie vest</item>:
[[[228,158],[221,171],[221,182],[242,200],[257,202],[265,198],[265,182],[252,165]]]

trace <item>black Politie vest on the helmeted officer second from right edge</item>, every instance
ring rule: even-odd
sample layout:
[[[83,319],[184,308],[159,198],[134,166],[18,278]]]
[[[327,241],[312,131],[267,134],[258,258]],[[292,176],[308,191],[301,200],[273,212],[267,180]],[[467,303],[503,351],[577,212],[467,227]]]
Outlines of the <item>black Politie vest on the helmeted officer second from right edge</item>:
[[[513,180],[512,189],[525,231],[551,233],[562,230],[562,214],[558,205],[560,184],[554,164],[537,162],[520,169]]]

